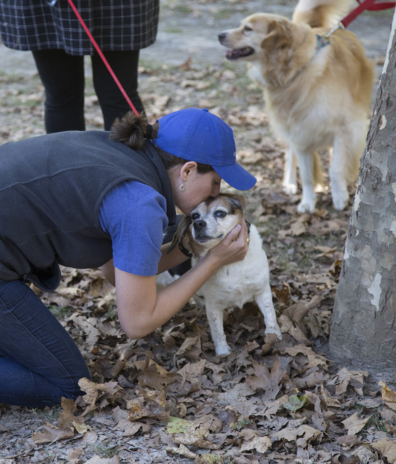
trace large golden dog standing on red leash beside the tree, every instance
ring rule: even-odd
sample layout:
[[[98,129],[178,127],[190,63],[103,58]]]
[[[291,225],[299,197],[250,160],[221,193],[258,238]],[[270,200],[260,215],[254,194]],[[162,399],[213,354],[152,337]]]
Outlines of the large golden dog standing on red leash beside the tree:
[[[333,205],[342,210],[365,147],[373,64],[351,32],[337,29],[326,37],[335,12],[346,6],[344,0],[300,0],[293,20],[255,13],[219,34],[231,49],[226,57],[249,61],[250,76],[264,87],[270,125],[288,146],[288,194],[297,192],[297,157],[299,212],[314,210],[315,187],[323,183],[318,150],[329,150]]]

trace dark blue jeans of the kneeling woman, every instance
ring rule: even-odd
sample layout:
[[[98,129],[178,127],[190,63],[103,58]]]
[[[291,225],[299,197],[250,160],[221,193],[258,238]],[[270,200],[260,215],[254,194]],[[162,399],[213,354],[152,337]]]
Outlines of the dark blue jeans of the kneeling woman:
[[[0,403],[44,408],[83,395],[77,345],[22,281],[0,280]]]

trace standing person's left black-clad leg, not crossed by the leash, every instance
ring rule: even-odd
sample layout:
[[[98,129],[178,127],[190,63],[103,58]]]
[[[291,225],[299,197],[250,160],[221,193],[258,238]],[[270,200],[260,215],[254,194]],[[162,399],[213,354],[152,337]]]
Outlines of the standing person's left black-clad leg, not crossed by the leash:
[[[84,56],[35,50],[33,57],[46,92],[47,133],[85,130]]]

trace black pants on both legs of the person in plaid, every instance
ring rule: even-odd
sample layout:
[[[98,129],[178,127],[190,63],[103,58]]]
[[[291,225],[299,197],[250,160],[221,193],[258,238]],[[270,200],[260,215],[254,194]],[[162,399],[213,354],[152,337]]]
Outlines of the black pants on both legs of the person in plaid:
[[[139,112],[144,111],[138,95],[139,50],[103,52],[125,92]],[[84,122],[84,56],[69,55],[63,50],[33,52],[43,82],[45,124],[47,133],[85,130]],[[104,118],[104,129],[110,130],[116,117],[131,108],[98,53],[92,55],[95,92]]]

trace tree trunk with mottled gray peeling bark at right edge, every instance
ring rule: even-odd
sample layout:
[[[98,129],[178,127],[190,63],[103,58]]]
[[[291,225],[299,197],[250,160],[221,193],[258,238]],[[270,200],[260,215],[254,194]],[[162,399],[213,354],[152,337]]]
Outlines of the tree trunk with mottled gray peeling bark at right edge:
[[[396,13],[349,220],[330,328],[333,359],[396,371]]]

